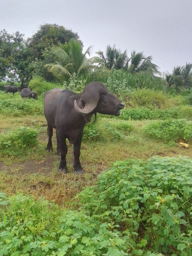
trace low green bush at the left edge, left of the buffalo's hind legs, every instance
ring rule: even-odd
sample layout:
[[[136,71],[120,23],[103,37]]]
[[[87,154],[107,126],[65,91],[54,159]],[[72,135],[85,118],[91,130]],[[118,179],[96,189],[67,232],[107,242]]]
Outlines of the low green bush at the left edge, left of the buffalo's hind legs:
[[[25,154],[37,144],[37,129],[20,127],[14,131],[1,134],[0,153],[9,156]]]

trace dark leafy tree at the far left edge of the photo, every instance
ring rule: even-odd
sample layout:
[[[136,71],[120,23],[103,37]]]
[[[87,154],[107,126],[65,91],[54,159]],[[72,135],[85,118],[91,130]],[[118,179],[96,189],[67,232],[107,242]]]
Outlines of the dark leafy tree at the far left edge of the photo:
[[[32,60],[32,52],[23,34],[17,31],[10,35],[5,30],[0,31],[0,60],[1,79],[28,83],[31,77],[29,63]]]

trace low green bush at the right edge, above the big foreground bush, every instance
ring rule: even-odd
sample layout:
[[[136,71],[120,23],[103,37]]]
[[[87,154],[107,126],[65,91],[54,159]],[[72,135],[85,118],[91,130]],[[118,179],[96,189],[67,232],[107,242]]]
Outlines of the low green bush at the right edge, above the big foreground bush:
[[[185,120],[157,121],[146,125],[143,128],[144,134],[149,137],[163,140],[174,144],[180,140],[185,142],[192,141],[192,123]]]

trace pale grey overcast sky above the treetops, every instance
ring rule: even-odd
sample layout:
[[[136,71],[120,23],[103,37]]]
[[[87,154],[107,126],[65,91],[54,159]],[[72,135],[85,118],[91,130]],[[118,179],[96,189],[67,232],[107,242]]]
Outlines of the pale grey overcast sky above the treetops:
[[[161,72],[192,62],[192,0],[0,0],[0,30],[26,37],[40,24],[77,32],[92,56],[106,46],[152,55]]]

